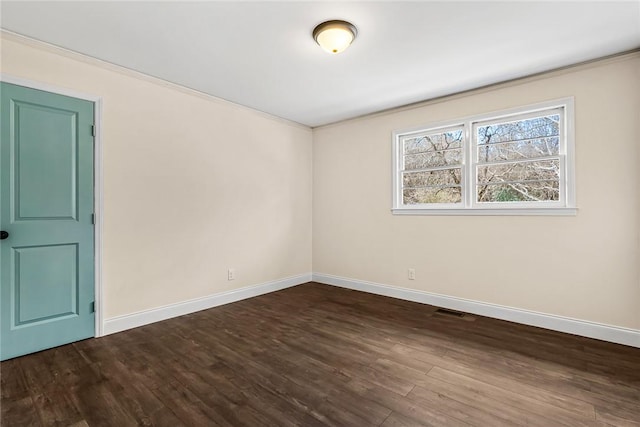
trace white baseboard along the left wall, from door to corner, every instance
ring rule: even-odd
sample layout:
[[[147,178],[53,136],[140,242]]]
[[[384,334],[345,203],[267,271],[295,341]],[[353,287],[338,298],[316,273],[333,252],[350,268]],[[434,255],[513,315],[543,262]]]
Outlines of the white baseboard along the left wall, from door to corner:
[[[111,319],[106,319],[104,321],[102,329],[103,336],[114,334],[116,332],[126,331],[127,329],[137,328],[139,326],[148,325],[150,323],[159,322],[161,320],[171,319],[172,317],[183,316],[185,314],[194,313],[196,311],[206,310],[208,308],[217,307],[219,305],[229,304],[231,302],[256,297],[258,295],[267,294],[269,292],[279,291],[281,289],[301,285],[310,281],[311,273],[301,274],[299,276],[273,280],[271,282],[261,283],[259,285],[247,286],[240,289],[221,292],[219,294],[208,295],[202,298],[196,298],[176,304],[152,308],[150,310],[126,314],[124,316],[112,317]]]

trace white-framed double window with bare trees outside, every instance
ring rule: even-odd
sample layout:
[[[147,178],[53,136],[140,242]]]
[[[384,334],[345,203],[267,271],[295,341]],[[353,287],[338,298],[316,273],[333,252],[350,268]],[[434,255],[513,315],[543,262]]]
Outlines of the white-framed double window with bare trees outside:
[[[395,214],[573,215],[573,99],[393,134]]]

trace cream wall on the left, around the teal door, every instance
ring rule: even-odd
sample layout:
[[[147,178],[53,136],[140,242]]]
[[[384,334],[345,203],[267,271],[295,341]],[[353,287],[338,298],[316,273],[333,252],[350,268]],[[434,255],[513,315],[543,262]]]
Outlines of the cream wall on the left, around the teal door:
[[[105,319],[311,271],[310,129],[6,33],[2,72],[103,99]]]

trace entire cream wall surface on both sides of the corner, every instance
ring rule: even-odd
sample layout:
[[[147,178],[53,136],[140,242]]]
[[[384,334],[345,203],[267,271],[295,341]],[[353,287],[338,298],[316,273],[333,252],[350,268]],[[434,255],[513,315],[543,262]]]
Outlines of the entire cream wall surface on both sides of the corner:
[[[1,65],[103,98],[106,319],[308,273],[313,248],[318,273],[640,329],[637,54],[313,132],[6,33]],[[391,215],[393,130],[566,96],[577,216]]]

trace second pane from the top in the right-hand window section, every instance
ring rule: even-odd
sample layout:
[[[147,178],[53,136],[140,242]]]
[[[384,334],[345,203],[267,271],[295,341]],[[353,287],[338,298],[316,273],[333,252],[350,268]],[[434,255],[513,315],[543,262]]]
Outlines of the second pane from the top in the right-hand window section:
[[[478,146],[478,163],[557,156],[559,153],[560,138],[557,136],[502,144],[491,143]]]

